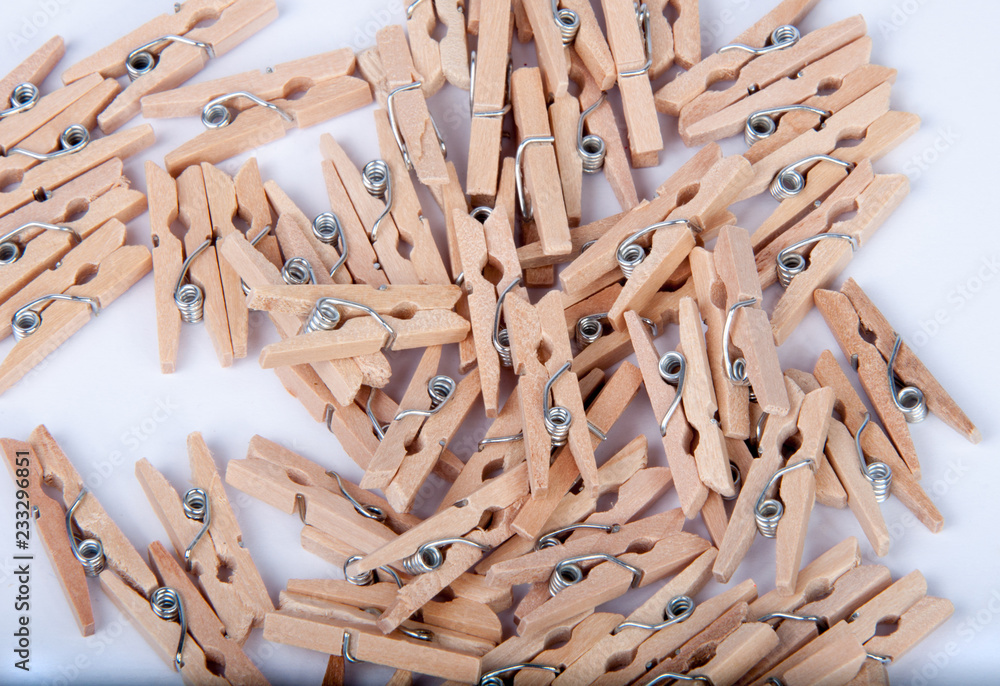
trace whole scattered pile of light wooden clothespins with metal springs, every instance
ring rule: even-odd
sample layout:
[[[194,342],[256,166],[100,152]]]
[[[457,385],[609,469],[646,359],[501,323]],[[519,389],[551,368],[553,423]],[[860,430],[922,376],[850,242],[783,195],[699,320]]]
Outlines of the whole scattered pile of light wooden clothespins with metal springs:
[[[886,665],[952,605],[927,595],[919,571],[894,582],[861,565],[853,538],[803,565],[810,513],[816,501],[850,508],[879,556],[890,495],[939,531],[908,425],[933,412],[972,442],[980,434],[857,282],[828,290],[906,196],[906,177],[872,162],[919,119],[890,109],[895,70],[869,64],[860,16],[800,35],[815,2],[784,0],[702,59],[696,0],[416,0],[408,31],[383,28],[358,55],[181,86],[277,16],[272,0],[189,0],[70,68],[63,89],[29,88],[60,57],[58,39],[0,81],[13,93],[0,169],[23,175],[0,193],[0,311],[19,339],[0,390],[152,263],[162,371],[176,367],[182,323],[203,321],[228,366],[248,353],[249,310],[265,311],[281,340],[261,366],[364,470],[355,485],[257,436],[223,477],[192,434],[185,493],[136,465],[176,553],[154,543],[147,566],[44,427],[3,439],[82,632],[94,630],[86,576],[97,576],[199,684],[266,683],[241,647],[254,627],[331,655],[327,684],[350,681],[352,662],[398,670],[393,684],[887,683]],[[209,6],[217,21],[196,27]],[[537,68],[513,68],[515,28]],[[721,80],[732,84],[712,87]],[[464,181],[447,159],[453,132],[426,102],[446,82],[470,93]],[[616,87],[627,148],[606,98]],[[373,98],[381,159],[359,168],[320,136],[330,209],[313,217],[255,159],[235,176],[215,166]],[[200,115],[206,128],[165,170],[146,162],[151,260],[122,247],[144,198],[120,158],[152,131],[111,133],[140,110]],[[631,168],[658,164],[658,113],[703,147],[640,202]],[[95,125],[106,135],[90,140]],[[723,156],[715,141],[738,134],[746,152]],[[622,211],[579,226],[583,175],[602,169]],[[446,256],[419,184],[444,215]],[[740,228],[730,206],[768,191],[773,213]],[[549,290],[532,302],[529,287]],[[811,373],[782,368],[778,346],[813,304],[867,403],[830,351]],[[661,354],[671,325],[680,344]],[[381,390],[385,353],[407,349],[423,354],[397,402]],[[440,369],[455,350],[460,380]],[[477,452],[456,455],[449,444],[480,401],[493,423]],[[627,412],[656,422],[652,459],[644,435],[602,454]],[[421,520],[411,510],[432,473],[450,486]],[[275,609],[223,479],[301,517],[303,548],[344,580],[290,579]],[[671,489],[680,508],[649,514]],[[682,530],[699,515],[711,540]],[[748,580],[699,597],[710,579],[730,581],[758,533],[775,539],[775,590],[758,597]],[[654,584],[628,616],[597,611]],[[500,613],[519,585],[530,587],[511,634]]]

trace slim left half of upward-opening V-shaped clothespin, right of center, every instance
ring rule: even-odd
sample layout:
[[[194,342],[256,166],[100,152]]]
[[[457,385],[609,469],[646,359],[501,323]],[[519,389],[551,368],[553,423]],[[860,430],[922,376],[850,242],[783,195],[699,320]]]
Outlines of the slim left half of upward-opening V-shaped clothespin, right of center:
[[[677,391],[660,377],[660,354],[653,343],[649,328],[635,312],[625,313],[632,346],[635,348],[636,359],[642,370],[643,381],[649,402],[653,406],[653,415],[657,423],[666,416],[667,410],[674,400]],[[691,439],[691,429],[688,426],[684,410],[676,407],[673,416],[667,423],[663,435],[663,450],[667,463],[674,477],[674,486],[680,497],[681,508],[688,519],[692,519],[705,504],[708,489],[698,476],[698,465],[695,458],[688,452]],[[728,469],[728,465],[727,465]]]

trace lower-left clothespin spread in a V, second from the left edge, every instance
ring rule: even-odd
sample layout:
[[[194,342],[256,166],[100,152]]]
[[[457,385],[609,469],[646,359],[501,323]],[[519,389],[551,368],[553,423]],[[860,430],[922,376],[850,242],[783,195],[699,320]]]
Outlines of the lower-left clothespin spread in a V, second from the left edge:
[[[253,558],[243,548],[243,533],[200,433],[188,436],[188,455],[193,488],[183,496],[148,460],[136,463],[136,478],[226,634],[242,643],[274,606]]]

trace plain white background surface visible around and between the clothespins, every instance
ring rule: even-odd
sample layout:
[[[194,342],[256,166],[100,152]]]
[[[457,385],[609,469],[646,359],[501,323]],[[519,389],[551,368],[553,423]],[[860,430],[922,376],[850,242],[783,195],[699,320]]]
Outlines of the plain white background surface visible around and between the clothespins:
[[[756,21],[773,2],[703,0],[703,50],[730,41]],[[281,17],[230,54],[212,61],[196,80],[264,68],[344,46],[367,47],[374,32],[403,19],[401,0],[342,2],[280,0]],[[0,73],[6,73],[53,34],[67,42],[66,57],[42,91],[57,87],[63,69],[116,39],[171,3],[125,0],[7,0],[2,5]],[[930,593],[955,603],[954,617],[917,650],[890,669],[894,683],[996,683],[1000,645],[1000,515],[997,487],[1000,464],[992,419],[1000,385],[996,364],[996,299],[1000,285],[1000,236],[996,226],[996,159],[998,105],[995,89],[995,3],[942,0],[828,0],[805,20],[803,32],[862,12],[875,39],[872,61],[899,70],[893,107],[916,112],[923,126],[895,152],[876,164],[880,172],[905,172],[909,198],[848,267],[889,321],[920,354],[981,428],[985,439],[972,446],[936,418],[913,427],[923,464],[925,489],[944,514],[940,534],[916,523],[895,499],[883,505],[893,543],[889,555],[876,560],[849,511],[817,507],[812,515],[805,560],[846,536],[862,539],[865,562],[887,565],[895,578],[919,568]],[[530,51],[516,49],[518,65],[532,61]],[[442,123],[450,158],[464,178],[467,151],[467,95],[447,87],[431,101]],[[616,101],[617,106],[617,101]],[[138,123],[136,120],[133,124]],[[691,154],[676,135],[676,123],[662,117],[667,147],[659,168],[635,173],[640,197],[656,186]],[[165,153],[201,130],[197,118],[153,123],[159,142],[126,163],[136,187],[144,189],[142,164],[162,164]],[[329,209],[317,141],[332,133],[354,160],[363,164],[377,155],[371,108],[305,131],[254,151],[265,179],[276,179],[307,214]],[[724,146],[737,153],[742,141]],[[222,165],[235,173],[246,156]],[[586,180],[584,221],[617,211],[603,176]],[[440,229],[433,202],[428,216]],[[736,208],[740,223],[754,229],[774,208],[769,197]],[[145,216],[129,227],[132,242],[149,243]],[[839,282],[838,282],[839,284]],[[775,294],[769,297],[773,304]],[[177,373],[159,373],[153,281],[146,278],[85,327],[22,383],[0,398],[0,435],[24,439],[36,425],[46,424],[91,490],[137,548],[166,540],[133,474],[142,457],[163,471],[182,492],[189,476],[185,436],[202,431],[220,467],[243,457],[250,437],[259,433],[287,445],[351,479],[358,469],[336,440],[312,421],[276,377],[260,370],[255,357],[274,338],[270,325],[257,315],[252,321],[250,358],[220,369],[202,327],[186,326]],[[935,321],[937,320],[937,321]],[[660,349],[672,346],[668,331]],[[0,344],[5,355],[11,341]],[[786,367],[812,369],[819,353],[830,348],[843,362],[836,343],[815,311],[781,348]],[[414,364],[413,355],[393,357],[396,371],[389,391],[399,397]],[[612,432],[599,459],[611,455],[636,432],[650,437],[650,463],[664,464],[644,394],[634,412]],[[465,458],[487,427],[481,415],[470,418],[452,449]],[[438,484],[439,486],[439,484]],[[425,493],[424,509],[433,506],[440,488]],[[277,599],[289,578],[338,576],[339,572],[303,552],[298,545],[297,517],[279,515],[269,506],[231,490],[247,547]],[[41,546],[32,579],[31,622],[34,629],[32,671],[13,669],[12,605],[16,584],[10,575],[13,548],[13,488],[0,477],[0,682],[3,683],[177,683],[142,638],[92,586],[98,631],[82,638],[52,576]],[[674,507],[676,496],[661,508]],[[2,523],[6,522],[6,526]],[[693,530],[702,531],[700,524]],[[735,581],[756,579],[760,591],[773,585],[773,543],[758,538]],[[710,586],[702,597],[718,591]],[[651,592],[635,591],[616,610],[627,612]],[[319,683],[325,657],[271,645],[260,632],[248,652],[273,683]],[[384,683],[386,670],[350,668],[351,680]]]

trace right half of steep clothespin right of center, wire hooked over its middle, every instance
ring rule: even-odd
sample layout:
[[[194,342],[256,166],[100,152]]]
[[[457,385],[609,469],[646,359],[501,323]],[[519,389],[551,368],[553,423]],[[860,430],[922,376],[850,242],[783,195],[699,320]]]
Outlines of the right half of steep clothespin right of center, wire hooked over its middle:
[[[733,384],[749,385],[769,415],[783,415],[788,412],[788,395],[781,383],[781,363],[762,307],[763,294],[746,230],[722,228],[715,245],[715,267],[726,287],[726,322],[731,323],[729,339],[723,341],[727,378]],[[744,357],[733,361],[733,346]]]

